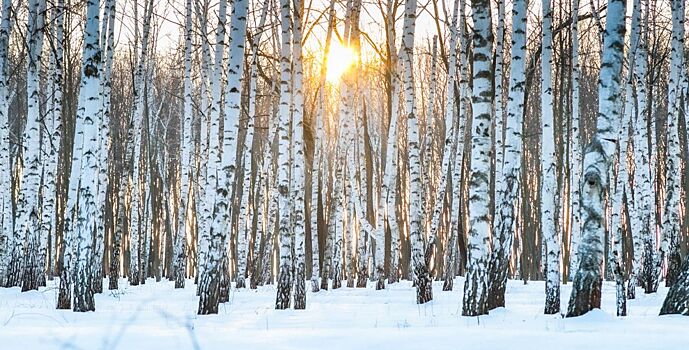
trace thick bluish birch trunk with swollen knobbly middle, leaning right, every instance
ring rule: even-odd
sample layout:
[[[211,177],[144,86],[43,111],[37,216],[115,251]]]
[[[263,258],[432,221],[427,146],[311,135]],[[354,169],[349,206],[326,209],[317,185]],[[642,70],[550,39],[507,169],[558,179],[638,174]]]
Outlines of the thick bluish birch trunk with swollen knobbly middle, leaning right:
[[[605,236],[603,208],[608,188],[608,169],[617,147],[615,126],[620,118],[619,106],[622,98],[620,75],[624,60],[625,8],[624,0],[608,1],[598,83],[598,120],[593,140],[586,147],[584,155],[584,177],[581,184],[583,232],[579,246],[579,266],[574,276],[567,317],[580,316],[594,308],[600,308],[600,271]]]

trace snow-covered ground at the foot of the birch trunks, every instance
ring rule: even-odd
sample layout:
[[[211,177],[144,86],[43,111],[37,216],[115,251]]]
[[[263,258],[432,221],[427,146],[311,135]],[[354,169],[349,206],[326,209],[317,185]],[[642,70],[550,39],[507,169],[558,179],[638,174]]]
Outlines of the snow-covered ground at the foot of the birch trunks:
[[[307,295],[306,310],[274,310],[275,288],[232,290],[218,315],[198,316],[195,287],[149,280],[96,296],[96,312],[55,310],[55,283],[20,293],[0,288],[0,349],[687,349],[689,318],[658,316],[667,293],[644,295],[615,316],[614,285],[603,309],[545,316],[543,282],[509,281],[507,307],[462,317],[455,291],[436,282],[434,300],[415,304],[409,282],[376,291],[342,288]],[[122,280],[120,285],[126,286]],[[308,286],[308,284],[307,284]],[[107,285],[106,285],[107,287]],[[562,288],[566,308],[570,285]]]

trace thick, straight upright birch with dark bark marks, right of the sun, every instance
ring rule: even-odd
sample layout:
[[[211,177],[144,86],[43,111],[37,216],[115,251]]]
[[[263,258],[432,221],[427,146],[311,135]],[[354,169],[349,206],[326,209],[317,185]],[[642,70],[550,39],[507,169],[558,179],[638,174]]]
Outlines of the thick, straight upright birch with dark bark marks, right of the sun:
[[[488,313],[490,150],[493,110],[490,1],[472,0],[474,20],[471,175],[469,179],[468,266],[462,315]]]

